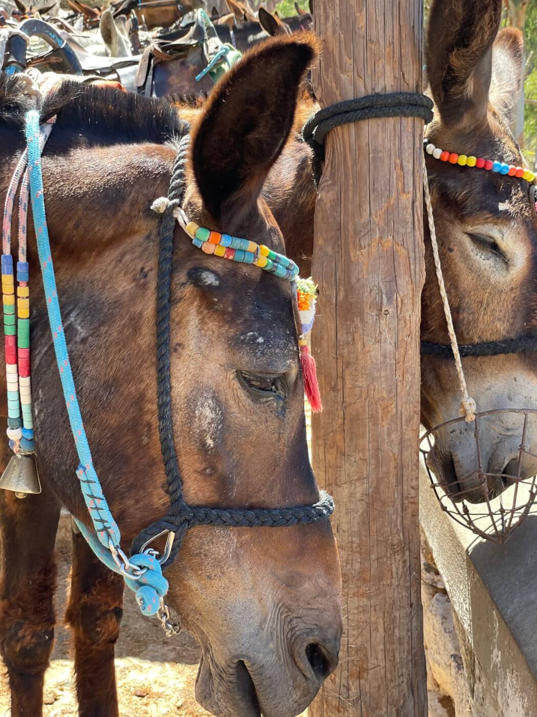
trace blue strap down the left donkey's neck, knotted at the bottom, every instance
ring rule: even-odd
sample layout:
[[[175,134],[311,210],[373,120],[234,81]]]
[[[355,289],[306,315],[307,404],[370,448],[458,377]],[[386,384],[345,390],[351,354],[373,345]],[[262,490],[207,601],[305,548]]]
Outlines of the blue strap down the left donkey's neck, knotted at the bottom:
[[[89,450],[82,414],[77,400],[77,391],[74,388],[74,379],[69,362],[69,352],[65,341],[62,314],[59,309],[56,279],[54,277],[54,265],[47,229],[47,215],[44,207],[44,189],[41,166],[41,129],[39,127],[39,113],[30,110],[26,113],[25,125],[26,143],[28,146],[28,168],[30,180],[30,196],[32,199],[32,213],[34,215],[34,228],[37,237],[37,252],[39,264],[43,275],[44,293],[49,315],[50,330],[56,361],[59,370],[59,378],[62,381],[65,405],[71,424],[74,443],[80,465],[77,468],[77,476],[80,481],[82,495],[93,521],[95,534],[91,533],[86,526],[77,521],[77,525],[84,538],[95,555],[110,569],[120,573],[110,552],[109,541],[115,549],[120,549],[120,529],[110,513],[110,508],[102,493],[99,478],[93,467],[92,455]],[[136,592],[137,602],[144,614],[155,614],[158,611],[160,597],[168,592],[168,581],[163,577],[162,568],[153,556],[139,554],[130,558],[133,565],[145,567],[147,571],[140,579],[125,577],[125,582],[130,589]]]

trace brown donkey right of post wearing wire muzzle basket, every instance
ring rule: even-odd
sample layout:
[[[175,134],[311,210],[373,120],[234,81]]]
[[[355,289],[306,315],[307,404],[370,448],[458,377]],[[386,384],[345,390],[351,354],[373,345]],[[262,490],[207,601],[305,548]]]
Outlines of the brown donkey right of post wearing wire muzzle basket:
[[[523,44],[516,29],[498,33],[501,0],[435,0],[427,29],[427,68],[435,119],[427,138],[467,156],[524,166],[510,130],[523,78]],[[460,343],[531,336],[537,332],[535,187],[512,176],[438,161],[427,155],[432,206],[445,285]],[[448,343],[432,252],[425,227],[427,281],[422,339]],[[534,353],[463,359],[478,410],[537,408]],[[422,422],[432,427],[458,416],[453,360],[422,359]],[[523,417],[498,414],[480,424],[481,460],[490,497],[516,475]],[[473,424],[443,429],[435,443],[437,478],[470,501],[483,502]],[[537,454],[537,421],[527,447]],[[537,460],[526,456],[522,477]],[[463,482],[461,482],[463,481]]]

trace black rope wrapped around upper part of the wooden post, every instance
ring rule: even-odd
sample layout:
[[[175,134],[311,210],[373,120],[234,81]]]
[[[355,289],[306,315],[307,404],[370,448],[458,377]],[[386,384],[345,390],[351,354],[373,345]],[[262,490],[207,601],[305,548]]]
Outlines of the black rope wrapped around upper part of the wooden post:
[[[315,113],[304,125],[302,136],[314,151],[314,177],[319,186],[324,160],[324,138],[335,127],[385,117],[420,117],[432,120],[432,100],[420,92],[390,92],[343,100]]]

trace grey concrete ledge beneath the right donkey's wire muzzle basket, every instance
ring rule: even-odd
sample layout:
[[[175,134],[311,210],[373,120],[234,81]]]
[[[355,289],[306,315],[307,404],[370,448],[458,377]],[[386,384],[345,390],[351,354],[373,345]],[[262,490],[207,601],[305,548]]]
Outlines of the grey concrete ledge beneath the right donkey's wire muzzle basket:
[[[420,522],[455,612],[477,717],[537,715],[536,513],[497,546],[441,511],[420,470]]]

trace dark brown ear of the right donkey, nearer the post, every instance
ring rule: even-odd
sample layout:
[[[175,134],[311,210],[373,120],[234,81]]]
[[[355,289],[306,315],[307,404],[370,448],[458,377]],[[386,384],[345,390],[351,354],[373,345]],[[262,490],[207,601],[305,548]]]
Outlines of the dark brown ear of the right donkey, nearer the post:
[[[442,123],[473,130],[486,119],[492,46],[502,0],[434,0],[427,67]]]

